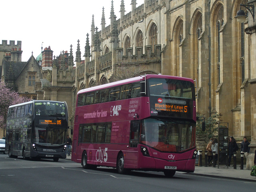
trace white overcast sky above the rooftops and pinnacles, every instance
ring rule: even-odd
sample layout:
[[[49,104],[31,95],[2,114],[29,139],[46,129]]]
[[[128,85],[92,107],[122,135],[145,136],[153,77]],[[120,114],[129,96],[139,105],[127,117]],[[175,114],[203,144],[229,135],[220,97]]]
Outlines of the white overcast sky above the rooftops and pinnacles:
[[[81,56],[84,55],[86,34],[91,36],[92,15],[94,24],[101,30],[102,7],[106,26],[110,24],[112,0],[1,0],[0,44],[2,40],[22,41],[22,61],[36,58],[41,47],[50,46],[53,55],[62,50],[70,52],[72,44],[75,58],[77,40],[80,40]],[[121,0],[113,0],[114,12],[120,18]],[[136,0],[136,7],[144,0]],[[131,0],[124,0],[125,14],[131,11]],[[89,43],[91,45],[91,37]],[[43,43],[42,43],[43,42]],[[82,60],[84,58],[82,57]]]

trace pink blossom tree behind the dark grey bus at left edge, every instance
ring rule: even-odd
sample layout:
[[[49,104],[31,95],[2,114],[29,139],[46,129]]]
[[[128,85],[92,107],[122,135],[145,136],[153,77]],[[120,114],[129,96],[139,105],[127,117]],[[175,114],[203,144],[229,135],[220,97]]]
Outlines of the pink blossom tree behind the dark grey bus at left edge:
[[[17,92],[8,88],[3,82],[0,82],[0,130],[5,133],[6,117],[8,107],[23,102],[27,102],[30,99],[26,97],[20,97]]]

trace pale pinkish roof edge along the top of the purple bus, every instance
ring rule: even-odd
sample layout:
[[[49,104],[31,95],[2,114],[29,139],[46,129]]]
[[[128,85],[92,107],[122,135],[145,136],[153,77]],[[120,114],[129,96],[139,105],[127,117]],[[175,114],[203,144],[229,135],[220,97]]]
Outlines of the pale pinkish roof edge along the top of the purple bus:
[[[124,79],[124,80],[120,80],[120,81],[116,81],[116,82],[111,82],[111,83],[107,83],[107,84],[103,84],[103,85],[98,85],[98,86],[94,86],[94,87],[90,87],[90,88],[85,88],[85,89],[82,89],[82,90],[78,91],[77,94],[80,94],[80,93],[83,93],[83,92],[90,92],[90,91],[100,90],[100,89],[103,89],[103,88],[115,87],[115,86],[118,86],[118,85],[123,85],[123,84],[128,84],[128,83],[133,83],[133,82],[138,82],[140,80],[143,80],[143,78],[144,78],[144,75],[129,78],[129,79]],[[158,75],[147,74],[146,79],[149,79],[149,78],[170,78],[170,79],[176,79],[176,80],[190,81],[190,82],[194,83],[194,80],[192,80],[190,78],[169,76],[169,75],[161,75],[161,74],[158,74]]]

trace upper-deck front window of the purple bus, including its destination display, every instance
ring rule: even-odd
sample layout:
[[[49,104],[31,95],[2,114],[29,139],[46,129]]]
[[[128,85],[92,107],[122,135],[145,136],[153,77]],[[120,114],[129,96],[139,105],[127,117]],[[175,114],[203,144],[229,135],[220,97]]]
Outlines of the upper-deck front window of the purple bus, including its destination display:
[[[189,81],[148,79],[151,116],[193,117],[194,84]]]

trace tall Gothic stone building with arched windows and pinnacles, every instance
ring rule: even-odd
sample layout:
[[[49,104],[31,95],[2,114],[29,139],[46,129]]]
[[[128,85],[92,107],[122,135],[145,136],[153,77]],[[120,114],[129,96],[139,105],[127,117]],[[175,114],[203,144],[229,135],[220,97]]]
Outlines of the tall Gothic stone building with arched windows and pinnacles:
[[[110,4],[109,26],[104,8],[101,26],[94,25],[92,16],[84,60],[78,40],[76,68],[72,46],[69,54],[63,52],[44,67],[42,61],[42,79],[34,87],[38,99],[66,100],[72,126],[76,93],[111,82],[127,68],[136,68],[137,74],[192,78],[198,86],[197,111],[206,117],[222,114],[229,135],[238,142],[247,136],[253,151],[256,0],[144,0],[138,6],[131,0],[129,13],[125,13],[124,0],[120,2],[119,19],[113,1]],[[240,9],[247,13],[242,23],[235,19]]]

